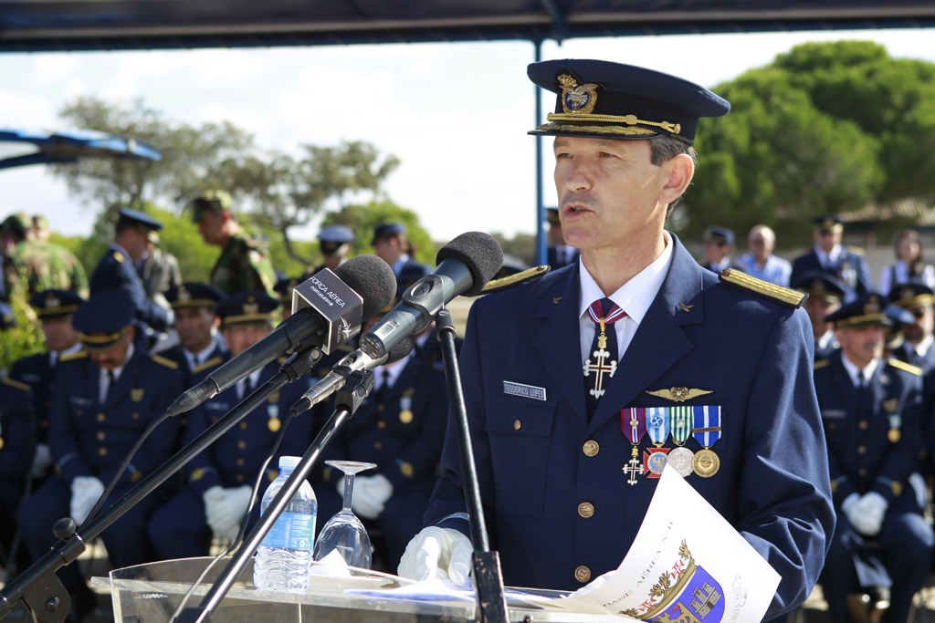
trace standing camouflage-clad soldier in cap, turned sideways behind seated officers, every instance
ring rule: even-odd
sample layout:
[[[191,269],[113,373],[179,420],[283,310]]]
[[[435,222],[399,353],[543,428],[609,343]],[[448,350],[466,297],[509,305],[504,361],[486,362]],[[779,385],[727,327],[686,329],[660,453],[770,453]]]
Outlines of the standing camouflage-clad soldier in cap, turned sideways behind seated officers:
[[[206,244],[220,247],[221,257],[211,269],[211,285],[226,294],[262,290],[275,296],[276,271],[263,250],[237,223],[230,195],[208,191],[192,202],[192,220]]]

